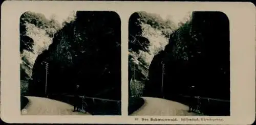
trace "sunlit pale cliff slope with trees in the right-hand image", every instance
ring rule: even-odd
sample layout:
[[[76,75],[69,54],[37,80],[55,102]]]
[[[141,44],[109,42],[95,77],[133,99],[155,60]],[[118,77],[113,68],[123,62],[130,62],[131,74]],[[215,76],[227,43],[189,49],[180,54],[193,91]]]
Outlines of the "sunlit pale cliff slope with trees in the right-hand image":
[[[158,14],[133,13],[129,20],[129,82],[132,91],[143,91],[148,81],[148,71],[155,55],[168,44],[169,35],[178,26]],[[131,81],[132,80],[132,81]],[[134,80],[138,82],[134,82]],[[142,86],[142,87],[141,87]]]

